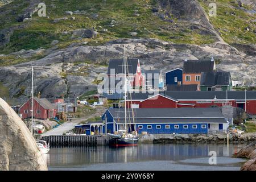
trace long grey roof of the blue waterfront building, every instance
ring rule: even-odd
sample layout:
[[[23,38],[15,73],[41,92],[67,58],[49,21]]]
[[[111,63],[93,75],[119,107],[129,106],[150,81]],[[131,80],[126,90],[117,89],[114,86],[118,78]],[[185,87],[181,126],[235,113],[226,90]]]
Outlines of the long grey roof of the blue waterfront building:
[[[125,109],[109,109],[114,118],[125,118]],[[217,107],[209,108],[140,108],[133,109],[134,118],[224,118]],[[131,115],[130,109],[130,115]],[[129,115],[129,113],[127,113]]]

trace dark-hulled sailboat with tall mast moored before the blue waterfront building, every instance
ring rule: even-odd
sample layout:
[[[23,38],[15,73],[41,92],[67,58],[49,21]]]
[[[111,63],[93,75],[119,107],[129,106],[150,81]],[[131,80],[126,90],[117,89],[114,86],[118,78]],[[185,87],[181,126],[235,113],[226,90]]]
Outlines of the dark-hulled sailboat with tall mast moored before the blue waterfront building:
[[[127,133],[127,108],[126,108],[126,94],[127,94],[127,78],[126,78],[126,55],[125,55],[125,45],[124,47],[124,68],[125,68],[125,73],[124,73],[124,99],[125,99],[125,130],[118,130],[118,134],[108,134],[110,137],[112,137],[109,140],[109,145],[110,146],[135,146],[137,145],[139,141],[139,137],[137,132],[135,133]],[[129,69],[127,69],[129,72]],[[130,117],[130,115],[129,115]],[[134,125],[135,126],[135,125]]]

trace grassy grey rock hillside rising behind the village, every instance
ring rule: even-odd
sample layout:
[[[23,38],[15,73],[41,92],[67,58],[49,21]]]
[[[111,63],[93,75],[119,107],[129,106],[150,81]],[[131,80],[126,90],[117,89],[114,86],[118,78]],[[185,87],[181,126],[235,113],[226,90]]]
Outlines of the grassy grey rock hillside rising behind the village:
[[[234,80],[256,83],[253,0],[214,1],[213,17],[207,0],[46,0],[46,17],[38,16],[39,2],[0,7],[0,97],[10,102],[27,98],[32,61],[43,97],[97,89],[97,75],[122,56],[123,43],[145,68],[164,72],[185,58],[214,56]]]

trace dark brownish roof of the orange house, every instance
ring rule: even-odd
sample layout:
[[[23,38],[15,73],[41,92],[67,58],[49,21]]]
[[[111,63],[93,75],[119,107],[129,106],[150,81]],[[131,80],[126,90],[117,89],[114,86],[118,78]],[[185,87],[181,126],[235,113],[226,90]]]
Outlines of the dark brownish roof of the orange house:
[[[183,73],[201,73],[213,71],[214,61],[187,60],[183,63]]]

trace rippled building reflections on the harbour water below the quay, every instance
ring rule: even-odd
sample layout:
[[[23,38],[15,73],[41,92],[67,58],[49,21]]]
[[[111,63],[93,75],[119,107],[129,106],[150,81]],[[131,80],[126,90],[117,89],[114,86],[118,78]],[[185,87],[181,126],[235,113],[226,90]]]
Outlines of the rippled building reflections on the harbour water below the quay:
[[[184,159],[205,158],[209,151],[217,156],[232,156],[243,144],[139,144],[138,146],[111,148],[66,147],[51,148],[46,156],[49,167],[84,166],[97,163],[130,163],[153,160],[179,161]]]

